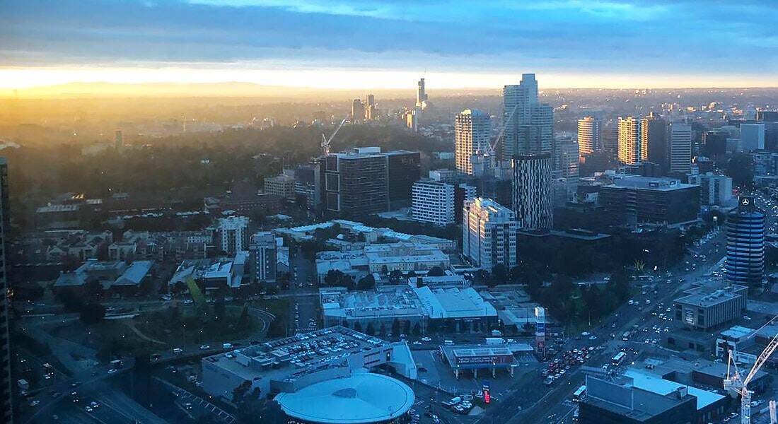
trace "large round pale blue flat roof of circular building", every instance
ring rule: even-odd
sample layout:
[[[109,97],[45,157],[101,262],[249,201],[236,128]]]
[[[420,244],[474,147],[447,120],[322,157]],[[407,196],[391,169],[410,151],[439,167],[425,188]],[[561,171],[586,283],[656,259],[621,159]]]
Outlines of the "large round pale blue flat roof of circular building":
[[[356,373],[275,397],[293,422],[304,424],[395,423],[408,419],[411,387],[380,374]]]

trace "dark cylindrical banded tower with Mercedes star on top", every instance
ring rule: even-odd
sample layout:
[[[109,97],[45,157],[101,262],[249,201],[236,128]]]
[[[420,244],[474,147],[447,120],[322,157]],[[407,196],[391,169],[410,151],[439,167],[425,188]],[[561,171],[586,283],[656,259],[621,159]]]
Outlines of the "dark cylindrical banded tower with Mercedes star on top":
[[[759,286],[765,274],[765,214],[741,196],[727,216],[727,281]]]

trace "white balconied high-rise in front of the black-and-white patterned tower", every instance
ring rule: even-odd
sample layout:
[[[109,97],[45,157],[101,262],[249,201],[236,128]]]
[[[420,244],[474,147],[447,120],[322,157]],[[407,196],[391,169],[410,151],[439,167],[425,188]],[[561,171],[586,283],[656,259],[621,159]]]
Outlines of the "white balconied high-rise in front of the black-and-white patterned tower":
[[[464,201],[462,253],[475,267],[491,272],[496,265],[516,266],[519,223],[509,208],[489,198]]]

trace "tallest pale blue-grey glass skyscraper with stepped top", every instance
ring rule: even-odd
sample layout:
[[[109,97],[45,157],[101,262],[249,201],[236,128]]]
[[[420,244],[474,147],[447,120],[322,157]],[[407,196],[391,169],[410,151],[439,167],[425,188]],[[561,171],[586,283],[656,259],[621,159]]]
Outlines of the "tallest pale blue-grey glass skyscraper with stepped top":
[[[521,75],[518,86],[503,87],[503,160],[516,155],[545,154],[554,149],[554,108],[538,103],[534,74]]]

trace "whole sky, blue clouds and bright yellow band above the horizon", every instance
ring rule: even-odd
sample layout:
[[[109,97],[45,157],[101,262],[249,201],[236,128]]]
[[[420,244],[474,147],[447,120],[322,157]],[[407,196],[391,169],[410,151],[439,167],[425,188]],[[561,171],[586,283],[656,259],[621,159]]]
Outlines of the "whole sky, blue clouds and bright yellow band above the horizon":
[[[778,86],[778,0],[0,0],[0,89]]]

